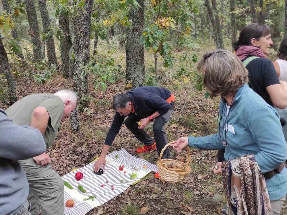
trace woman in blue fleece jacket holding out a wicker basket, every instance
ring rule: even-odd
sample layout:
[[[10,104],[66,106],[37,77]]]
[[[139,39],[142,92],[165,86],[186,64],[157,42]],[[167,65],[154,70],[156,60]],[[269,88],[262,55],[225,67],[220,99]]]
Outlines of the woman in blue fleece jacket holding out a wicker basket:
[[[204,137],[182,137],[173,148],[224,149],[231,160],[254,154],[262,173],[285,162],[286,142],[280,116],[248,86],[248,72],[242,62],[227,50],[216,50],[203,56],[198,69],[211,97],[220,95],[218,132]],[[221,167],[214,170],[221,173]],[[287,169],[266,180],[272,214],[280,214],[287,193]],[[279,205],[279,206],[278,206]],[[278,213],[279,208],[279,213]]]

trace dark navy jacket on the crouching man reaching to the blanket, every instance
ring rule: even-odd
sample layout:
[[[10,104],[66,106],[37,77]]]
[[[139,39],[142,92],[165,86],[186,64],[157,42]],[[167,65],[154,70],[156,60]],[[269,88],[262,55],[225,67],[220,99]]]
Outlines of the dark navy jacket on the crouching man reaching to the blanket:
[[[139,118],[146,118],[154,112],[160,115],[166,113],[171,105],[166,101],[171,96],[171,92],[163,87],[137,87],[127,92],[131,101],[133,102],[135,113],[130,113],[128,116],[138,116]],[[119,133],[121,125],[126,116],[121,116],[116,112],[113,123],[106,136],[105,144],[111,145]]]

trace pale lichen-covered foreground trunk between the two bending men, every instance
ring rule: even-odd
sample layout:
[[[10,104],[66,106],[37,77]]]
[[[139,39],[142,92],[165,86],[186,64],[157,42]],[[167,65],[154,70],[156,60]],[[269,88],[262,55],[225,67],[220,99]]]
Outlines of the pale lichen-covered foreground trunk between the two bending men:
[[[81,0],[79,0],[81,1]],[[93,0],[85,0],[84,8],[78,8],[78,16],[74,18],[74,50],[75,50],[75,71],[73,89],[78,95],[77,107],[71,114],[71,126],[74,131],[79,130],[79,110],[83,110],[88,97],[88,75],[85,74],[84,67],[90,59],[90,32],[91,32],[91,12]],[[83,102],[82,102],[83,101]]]

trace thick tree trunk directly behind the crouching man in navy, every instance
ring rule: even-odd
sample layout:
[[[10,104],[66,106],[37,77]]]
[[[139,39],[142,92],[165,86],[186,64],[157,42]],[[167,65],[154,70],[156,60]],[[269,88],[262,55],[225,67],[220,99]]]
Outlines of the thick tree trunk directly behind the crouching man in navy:
[[[132,21],[127,29],[126,80],[131,80],[132,88],[144,85],[144,46],[140,44],[144,31],[144,0],[137,0],[141,8],[132,8],[128,17]]]

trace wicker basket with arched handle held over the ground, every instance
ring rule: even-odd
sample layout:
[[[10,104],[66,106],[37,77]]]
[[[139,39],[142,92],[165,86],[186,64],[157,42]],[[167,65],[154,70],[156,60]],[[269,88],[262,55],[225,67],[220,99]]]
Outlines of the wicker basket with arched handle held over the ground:
[[[174,142],[170,142],[168,144],[166,144],[166,146],[164,146],[164,148],[162,149],[161,153],[160,153],[160,157],[159,160],[156,162],[156,165],[158,166],[158,173],[160,174],[160,178],[163,179],[164,181],[168,181],[168,182],[173,182],[173,183],[179,183],[182,182],[187,175],[190,173],[190,167],[189,167],[189,163],[190,163],[190,149],[187,146],[187,151],[188,151],[188,156],[187,156],[187,161],[186,163],[183,163],[181,161],[177,161],[177,160],[173,160],[173,159],[161,159],[162,154],[164,152],[164,150],[172,143]],[[167,165],[169,163],[173,163],[181,168],[179,169],[171,169],[168,168]]]

